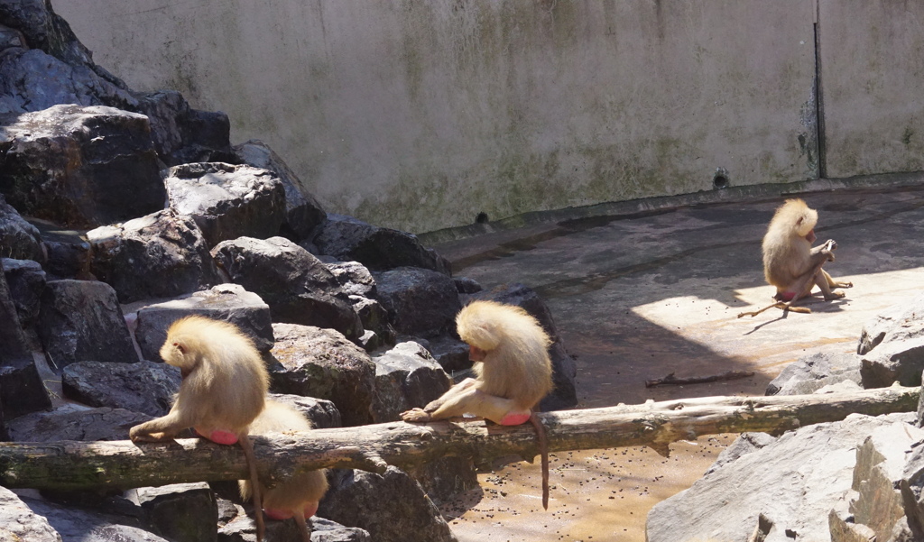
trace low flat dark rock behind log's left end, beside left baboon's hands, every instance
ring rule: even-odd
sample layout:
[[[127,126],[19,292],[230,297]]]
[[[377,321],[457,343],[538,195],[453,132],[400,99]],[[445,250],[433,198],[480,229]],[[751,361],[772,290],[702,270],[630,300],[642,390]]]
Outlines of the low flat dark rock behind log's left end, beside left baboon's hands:
[[[153,416],[123,408],[90,408],[67,404],[52,412],[36,412],[9,422],[12,440],[127,440],[128,429]]]

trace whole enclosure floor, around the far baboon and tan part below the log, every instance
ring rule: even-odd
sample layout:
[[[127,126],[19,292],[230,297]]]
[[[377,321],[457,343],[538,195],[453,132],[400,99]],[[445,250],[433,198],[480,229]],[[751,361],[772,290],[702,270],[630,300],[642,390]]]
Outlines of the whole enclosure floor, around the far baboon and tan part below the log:
[[[774,292],[763,280],[760,239],[785,198],[770,194],[574,220],[558,213],[553,220],[433,247],[454,262],[457,276],[485,287],[516,281],[539,292],[577,358],[578,408],[762,395],[801,356],[856,351],[865,322],[924,287],[924,177],[893,180],[795,195],[818,210],[819,242],[838,243],[837,260],[825,269],[854,283],[844,299],[825,302],[817,295],[808,301],[808,315],[772,309],[736,318],[768,304]],[[755,376],[644,385],[671,372],[692,377],[731,369],[753,370]],[[482,490],[469,495],[467,504],[456,503],[456,535],[463,541],[644,540],[650,507],[687,488],[731,438],[678,443],[669,462],[645,449],[559,454],[553,482],[557,475],[564,486],[553,489],[549,512],[522,500],[537,494],[538,467],[505,467],[482,476]],[[494,491],[498,480],[506,495]],[[567,486],[588,489],[576,493]],[[610,499],[617,488],[634,490]],[[532,509],[545,515],[525,513]],[[545,528],[537,530],[537,518]]]

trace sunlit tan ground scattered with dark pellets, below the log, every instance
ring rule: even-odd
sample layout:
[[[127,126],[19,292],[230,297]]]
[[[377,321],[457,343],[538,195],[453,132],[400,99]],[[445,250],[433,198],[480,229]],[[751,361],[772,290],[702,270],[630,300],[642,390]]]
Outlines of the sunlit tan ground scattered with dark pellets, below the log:
[[[538,458],[479,475],[481,488],[441,510],[460,542],[643,542],[651,507],[692,485],[735,437],[675,442],[667,458],[646,447],[556,452],[548,511]]]

